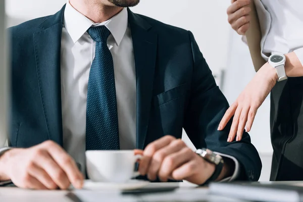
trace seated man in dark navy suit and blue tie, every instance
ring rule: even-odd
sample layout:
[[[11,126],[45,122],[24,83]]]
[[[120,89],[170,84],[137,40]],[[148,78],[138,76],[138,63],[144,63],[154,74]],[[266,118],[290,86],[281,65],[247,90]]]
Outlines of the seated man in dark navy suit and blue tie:
[[[138,3],[70,0],[9,29],[12,116],[0,181],[81,188],[85,150],[95,149],[137,149],[151,181],[259,179],[249,135],[228,143],[230,124],[217,131],[228,103],[192,33],[127,9]],[[190,150],[182,128],[222,167]]]

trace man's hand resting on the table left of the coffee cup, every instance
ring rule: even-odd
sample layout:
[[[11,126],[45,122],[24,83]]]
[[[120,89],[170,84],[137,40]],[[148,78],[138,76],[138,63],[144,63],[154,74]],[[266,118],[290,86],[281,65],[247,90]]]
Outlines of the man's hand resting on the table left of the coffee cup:
[[[0,158],[0,180],[21,188],[82,188],[83,176],[74,160],[53,141],[30,148],[14,148]]]

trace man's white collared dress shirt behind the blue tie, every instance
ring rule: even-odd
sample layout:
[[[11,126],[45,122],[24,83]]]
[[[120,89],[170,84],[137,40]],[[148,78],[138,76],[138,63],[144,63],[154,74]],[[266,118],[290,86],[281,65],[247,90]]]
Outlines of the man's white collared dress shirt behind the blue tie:
[[[61,41],[61,94],[63,147],[85,169],[86,99],[89,70],[95,56],[95,41],[86,32],[105,25],[111,32],[121,149],[136,146],[136,74],[127,9],[103,23],[94,24],[70,3],[64,13]]]

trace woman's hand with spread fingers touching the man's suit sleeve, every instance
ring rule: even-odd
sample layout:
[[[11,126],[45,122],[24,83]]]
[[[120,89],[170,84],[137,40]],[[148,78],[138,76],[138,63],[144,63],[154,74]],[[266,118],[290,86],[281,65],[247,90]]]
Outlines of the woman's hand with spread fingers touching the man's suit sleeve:
[[[246,131],[250,131],[258,108],[276,84],[277,78],[275,68],[266,63],[226,111],[218,130],[223,130],[234,116],[227,139],[228,142],[233,141],[236,134],[236,141],[241,140],[245,125]]]

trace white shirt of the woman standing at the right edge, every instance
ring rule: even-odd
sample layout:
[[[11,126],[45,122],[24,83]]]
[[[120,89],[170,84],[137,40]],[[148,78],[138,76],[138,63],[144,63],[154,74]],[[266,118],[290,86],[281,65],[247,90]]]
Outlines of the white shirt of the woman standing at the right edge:
[[[262,32],[262,57],[294,52],[303,65],[303,1],[255,0]]]

